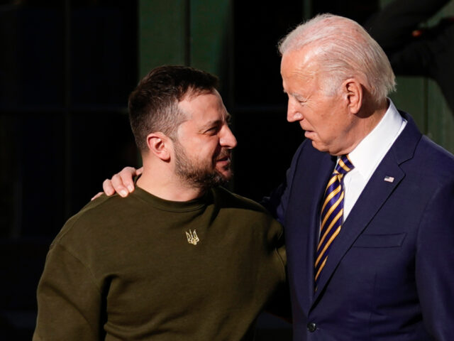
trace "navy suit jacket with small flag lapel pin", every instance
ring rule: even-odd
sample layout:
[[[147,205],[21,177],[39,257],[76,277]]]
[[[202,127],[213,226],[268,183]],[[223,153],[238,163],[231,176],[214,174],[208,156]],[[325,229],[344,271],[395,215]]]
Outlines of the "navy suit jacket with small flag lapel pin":
[[[454,340],[454,156],[401,114],[408,123],[343,223],[316,293],[336,158],[304,141],[265,201],[285,227],[294,340]]]

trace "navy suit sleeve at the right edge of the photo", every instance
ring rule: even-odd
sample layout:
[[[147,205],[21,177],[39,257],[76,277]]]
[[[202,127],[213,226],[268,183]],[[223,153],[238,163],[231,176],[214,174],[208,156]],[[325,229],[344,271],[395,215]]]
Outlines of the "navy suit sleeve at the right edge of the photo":
[[[428,203],[416,245],[416,286],[434,340],[454,337],[454,177]]]

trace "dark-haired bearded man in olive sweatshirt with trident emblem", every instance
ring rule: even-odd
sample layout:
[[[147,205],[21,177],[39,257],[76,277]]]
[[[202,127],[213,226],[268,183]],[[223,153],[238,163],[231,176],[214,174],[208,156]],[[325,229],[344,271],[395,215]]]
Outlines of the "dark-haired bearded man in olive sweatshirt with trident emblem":
[[[219,187],[236,139],[216,77],[152,70],[129,97],[143,173],[50,246],[33,340],[252,340],[282,286],[282,227]]]

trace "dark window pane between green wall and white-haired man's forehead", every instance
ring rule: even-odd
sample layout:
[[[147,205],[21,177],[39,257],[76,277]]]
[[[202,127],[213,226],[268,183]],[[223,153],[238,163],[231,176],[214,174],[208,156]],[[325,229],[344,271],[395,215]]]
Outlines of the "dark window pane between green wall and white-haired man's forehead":
[[[303,1],[257,6],[235,1],[235,104],[285,104],[277,41],[303,18]]]

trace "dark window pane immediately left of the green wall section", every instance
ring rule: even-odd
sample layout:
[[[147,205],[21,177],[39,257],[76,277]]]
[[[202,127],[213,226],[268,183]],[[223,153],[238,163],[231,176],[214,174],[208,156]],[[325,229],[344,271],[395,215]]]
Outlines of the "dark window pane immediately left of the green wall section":
[[[135,6],[97,2],[72,7],[72,104],[126,107],[137,80]]]

